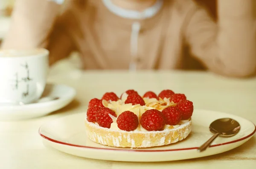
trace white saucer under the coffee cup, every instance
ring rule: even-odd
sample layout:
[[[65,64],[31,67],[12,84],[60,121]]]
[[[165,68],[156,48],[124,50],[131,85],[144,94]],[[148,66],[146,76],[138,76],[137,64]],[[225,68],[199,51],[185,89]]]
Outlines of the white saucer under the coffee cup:
[[[41,117],[67,106],[76,95],[75,89],[65,85],[47,84],[37,103],[6,105],[0,103],[0,120],[22,120]],[[58,98],[52,100],[52,98]]]

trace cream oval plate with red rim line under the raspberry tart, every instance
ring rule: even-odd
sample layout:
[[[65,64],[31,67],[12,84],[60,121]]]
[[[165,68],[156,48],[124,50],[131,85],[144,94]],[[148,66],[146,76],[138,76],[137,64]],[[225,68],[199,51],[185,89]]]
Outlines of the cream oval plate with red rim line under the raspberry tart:
[[[84,158],[114,161],[169,161],[199,158],[226,152],[249,140],[255,133],[255,125],[242,117],[209,110],[194,110],[192,132],[180,142],[168,146],[144,149],[114,148],[94,143],[86,137],[84,126],[85,113],[69,115],[52,120],[39,129],[43,142],[62,152]],[[212,133],[209,124],[218,119],[230,117],[241,125],[239,133],[233,137],[218,137],[204,152],[197,152]]]

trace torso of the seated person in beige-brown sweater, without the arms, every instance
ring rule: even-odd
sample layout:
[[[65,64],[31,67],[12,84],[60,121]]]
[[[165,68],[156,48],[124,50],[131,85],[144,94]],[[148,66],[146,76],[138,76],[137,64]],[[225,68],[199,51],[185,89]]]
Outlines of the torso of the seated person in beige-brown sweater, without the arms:
[[[184,68],[183,26],[189,9],[185,1],[189,0],[163,0],[162,8],[143,20],[117,16],[102,0],[73,4],[67,30],[84,69],[129,69],[131,63],[136,69]],[[134,23],[140,25],[137,37],[132,35]]]

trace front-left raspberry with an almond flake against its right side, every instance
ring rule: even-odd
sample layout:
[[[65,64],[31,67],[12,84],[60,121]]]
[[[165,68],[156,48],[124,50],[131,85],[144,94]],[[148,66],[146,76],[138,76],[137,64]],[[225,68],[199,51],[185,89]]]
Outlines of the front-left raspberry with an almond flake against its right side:
[[[113,120],[108,114],[111,114],[116,117],[116,113],[107,107],[99,109],[96,112],[95,116],[99,126],[109,129],[111,126],[111,123],[113,123]]]

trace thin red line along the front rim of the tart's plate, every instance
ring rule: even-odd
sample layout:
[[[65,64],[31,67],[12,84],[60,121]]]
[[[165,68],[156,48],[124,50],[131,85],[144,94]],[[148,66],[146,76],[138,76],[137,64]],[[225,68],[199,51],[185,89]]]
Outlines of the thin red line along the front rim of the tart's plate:
[[[88,149],[101,149],[101,150],[114,150],[114,151],[128,151],[128,152],[170,152],[170,151],[191,150],[191,149],[198,149],[198,148],[199,148],[199,147],[188,147],[188,148],[184,148],[184,149],[165,149],[165,150],[145,150],[145,149],[141,149],[141,150],[140,150],[140,149],[106,149],[106,148],[100,148],[100,147],[80,146],[80,145],[71,144],[71,143],[64,143],[64,142],[61,142],[61,141],[58,141],[58,140],[54,140],[54,139],[52,139],[52,138],[49,138],[49,137],[43,135],[43,134],[40,132],[40,129],[41,129],[41,127],[40,127],[39,130],[38,130],[39,135],[41,135],[41,137],[43,137],[43,138],[46,139],[46,140],[52,141],[52,142],[54,142],[54,143],[63,144],[63,145],[66,145],[66,146],[74,146],[74,147],[81,147],[81,148],[88,148]],[[239,142],[239,141],[241,141],[241,140],[245,140],[245,139],[247,139],[248,137],[251,137],[252,135],[254,135],[255,132],[256,132],[256,126],[254,125],[254,131],[253,131],[250,135],[247,135],[247,136],[245,136],[245,137],[239,138],[239,139],[237,139],[237,140],[229,141],[229,142],[226,142],[226,143],[211,145],[211,146],[209,146],[209,147],[216,147],[216,146],[222,146],[222,145],[226,145],[226,144],[236,143],[236,142]]]

